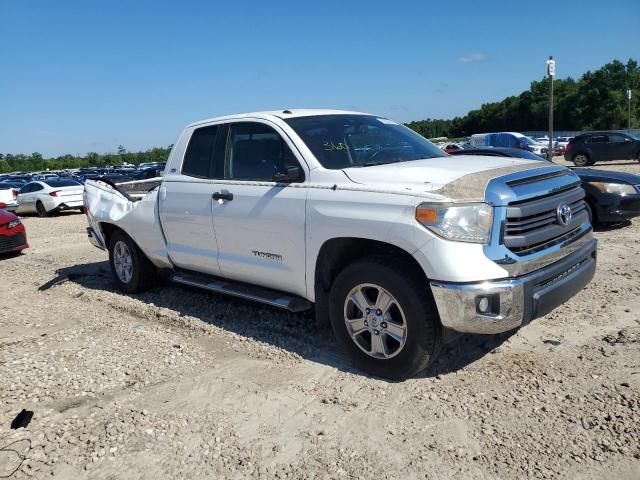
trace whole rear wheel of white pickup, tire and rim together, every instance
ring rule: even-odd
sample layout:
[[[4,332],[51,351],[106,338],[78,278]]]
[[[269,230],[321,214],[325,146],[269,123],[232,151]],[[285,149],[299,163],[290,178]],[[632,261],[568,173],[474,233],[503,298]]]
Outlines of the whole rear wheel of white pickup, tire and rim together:
[[[127,293],[148,290],[156,282],[155,266],[123,231],[111,236],[109,265],[116,284]]]

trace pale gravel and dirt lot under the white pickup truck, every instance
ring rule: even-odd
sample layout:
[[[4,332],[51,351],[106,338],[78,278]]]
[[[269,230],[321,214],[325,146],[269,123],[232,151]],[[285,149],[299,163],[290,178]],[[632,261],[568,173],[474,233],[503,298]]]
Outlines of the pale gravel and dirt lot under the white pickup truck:
[[[309,315],[116,292],[83,215],[24,223],[0,260],[0,478],[640,478],[640,220],[597,232],[569,303],[402,383]]]

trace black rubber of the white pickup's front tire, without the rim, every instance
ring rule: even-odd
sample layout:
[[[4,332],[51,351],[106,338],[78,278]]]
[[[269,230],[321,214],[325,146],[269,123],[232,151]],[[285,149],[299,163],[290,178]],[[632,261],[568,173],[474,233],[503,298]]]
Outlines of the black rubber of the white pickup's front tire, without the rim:
[[[404,313],[406,340],[391,358],[374,358],[366,353],[347,329],[347,297],[362,284],[382,287],[394,297]],[[411,377],[425,369],[440,351],[442,326],[435,302],[424,276],[404,259],[376,256],[357,260],[347,266],[331,287],[329,318],[338,343],[347,351],[356,367],[371,375],[393,380]],[[370,343],[373,343],[372,332],[364,335],[369,335]],[[373,350],[372,346],[370,350]]]

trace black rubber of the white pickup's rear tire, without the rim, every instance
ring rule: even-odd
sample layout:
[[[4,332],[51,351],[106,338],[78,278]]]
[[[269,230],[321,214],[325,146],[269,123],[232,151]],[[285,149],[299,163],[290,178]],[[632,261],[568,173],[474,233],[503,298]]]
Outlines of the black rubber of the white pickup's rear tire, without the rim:
[[[116,246],[120,248],[118,245],[119,242],[122,242],[126,246],[130,255],[131,275],[128,280],[122,279],[116,271],[115,249]],[[111,273],[118,288],[126,293],[143,292],[153,287],[156,283],[156,267],[149,261],[145,254],[142,253],[133,239],[122,230],[114,232],[109,239],[109,266],[111,267]]]

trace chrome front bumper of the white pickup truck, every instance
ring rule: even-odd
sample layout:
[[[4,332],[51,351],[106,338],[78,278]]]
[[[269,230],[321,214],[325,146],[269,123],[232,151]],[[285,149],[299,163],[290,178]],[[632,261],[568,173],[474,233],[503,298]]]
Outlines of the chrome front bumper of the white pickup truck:
[[[529,274],[478,283],[431,282],[444,327],[493,334],[513,330],[549,313],[587,285],[596,270],[593,238],[565,258]],[[481,313],[479,300],[488,299]]]

